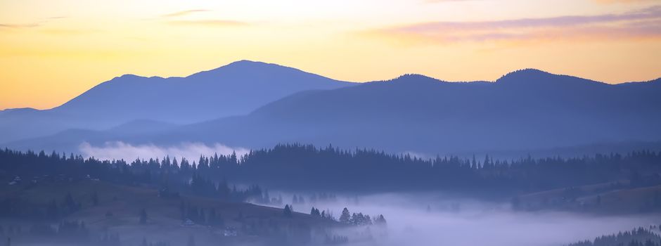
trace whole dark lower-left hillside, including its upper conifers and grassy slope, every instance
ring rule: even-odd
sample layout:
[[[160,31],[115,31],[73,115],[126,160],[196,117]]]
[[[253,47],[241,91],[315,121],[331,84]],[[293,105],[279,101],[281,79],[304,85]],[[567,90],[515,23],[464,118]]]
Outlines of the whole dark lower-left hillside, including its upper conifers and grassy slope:
[[[383,216],[373,224],[359,214],[360,223],[349,224],[330,210],[289,206],[186,160],[129,164],[0,150],[0,235],[13,245],[322,245],[367,240],[352,235],[355,226],[385,226]]]

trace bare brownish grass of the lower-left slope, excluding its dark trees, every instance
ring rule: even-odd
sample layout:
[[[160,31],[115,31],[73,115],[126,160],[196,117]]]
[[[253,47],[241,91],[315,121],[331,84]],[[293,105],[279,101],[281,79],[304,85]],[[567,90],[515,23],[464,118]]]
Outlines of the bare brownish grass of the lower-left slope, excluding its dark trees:
[[[91,202],[92,194],[98,194],[98,205]],[[171,245],[185,245],[190,235],[199,242],[218,242],[218,240],[240,240],[242,242],[259,242],[260,237],[241,235],[236,238],[223,238],[222,228],[211,230],[206,226],[181,226],[179,206],[184,201],[187,204],[205,209],[208,214],[211,208],[216,210],[225,221],[226,226],[242,228],[245,226],[261,226],[264,230],[270,227],[289,228],[310,226],[312,228],[329,228],[338,226],[333,221],[319,219],[309,214],[295,213],[293,218],[283,216],[282,209],[263,207],[248,203],[223,202],[210,198],[182,196],[181,198],[159,198],[158,191],[152,188],[117,186],[100,181],[58,181],[39,183],[28,188],[27,185],[0,186],[0,199],[8,196],[19,196],[21,200],[34,204],[46,205],[51,200],[58,204],[63,202],[65,195],[71,193],[75,201],[81,202],[82,209],[68,215],[67,220],[84,221],[96,235],[108,231],[120,233],[123,244],[138,245],[143,238],[150,241],[168,241]],[[139,212],[146,209],[147,225],[139,224]],[[106,216],[111,212],[113,216]],[[242,216],[243,219],[238,219]],[[0,219],[0,224],[1,224]],[[25,225],[28,228],[29,225]]]

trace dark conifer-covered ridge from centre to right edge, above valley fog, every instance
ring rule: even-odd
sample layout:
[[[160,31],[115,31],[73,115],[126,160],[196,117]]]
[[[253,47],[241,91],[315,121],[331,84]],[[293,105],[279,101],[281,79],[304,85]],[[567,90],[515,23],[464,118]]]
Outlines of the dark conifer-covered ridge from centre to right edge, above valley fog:
[[[340,150],[312,145],[276,145],[255,150],[240,164],[221,158],[212,169],[220,174],[259,180],[276,186],[373,190],[507,190],[535,191],[619,179],[636,186],[660,183],[661,155],[640,151],[628,155],[580,158],[525,157],[519,160],[461,159],[391,155],[376,150]],[[654,175],[652,175],[654,174]],[[295,179],[293,179],[295,178]],[[341,179],[341,182],[338,182]],[[369,186],[362,186],[369,183]],[[311,187],[312,186],[312,187]]]

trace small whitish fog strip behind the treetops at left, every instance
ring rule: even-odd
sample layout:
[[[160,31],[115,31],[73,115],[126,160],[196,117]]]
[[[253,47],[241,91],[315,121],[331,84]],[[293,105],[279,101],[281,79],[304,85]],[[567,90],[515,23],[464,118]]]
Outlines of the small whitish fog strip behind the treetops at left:
[[[236,155],[244,155],[250,150],[245,148],[232,148],[222,143],[207,145],[205,143],[184,142],[178,145],[161,146],[154,144],[133,145],[122,141],[106,142],[103,145],[91,145],[90,143],[81,143],[79,151],[84,157],[94,157],[98,160],[149,160],[150,158],[162,158],[165,156],[181,158],[188,160],[198,160],[200,155],[212,156],[230,155],[235,152]]]

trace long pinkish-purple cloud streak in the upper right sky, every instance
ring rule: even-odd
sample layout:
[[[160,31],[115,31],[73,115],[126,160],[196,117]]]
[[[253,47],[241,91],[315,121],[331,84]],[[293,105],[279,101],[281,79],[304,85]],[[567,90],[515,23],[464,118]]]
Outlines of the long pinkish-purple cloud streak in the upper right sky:
[[[370,35],[427,42],[661,37],[661,6],[620,14],[567,15],[478,22],[423,22],[368,30]]]

